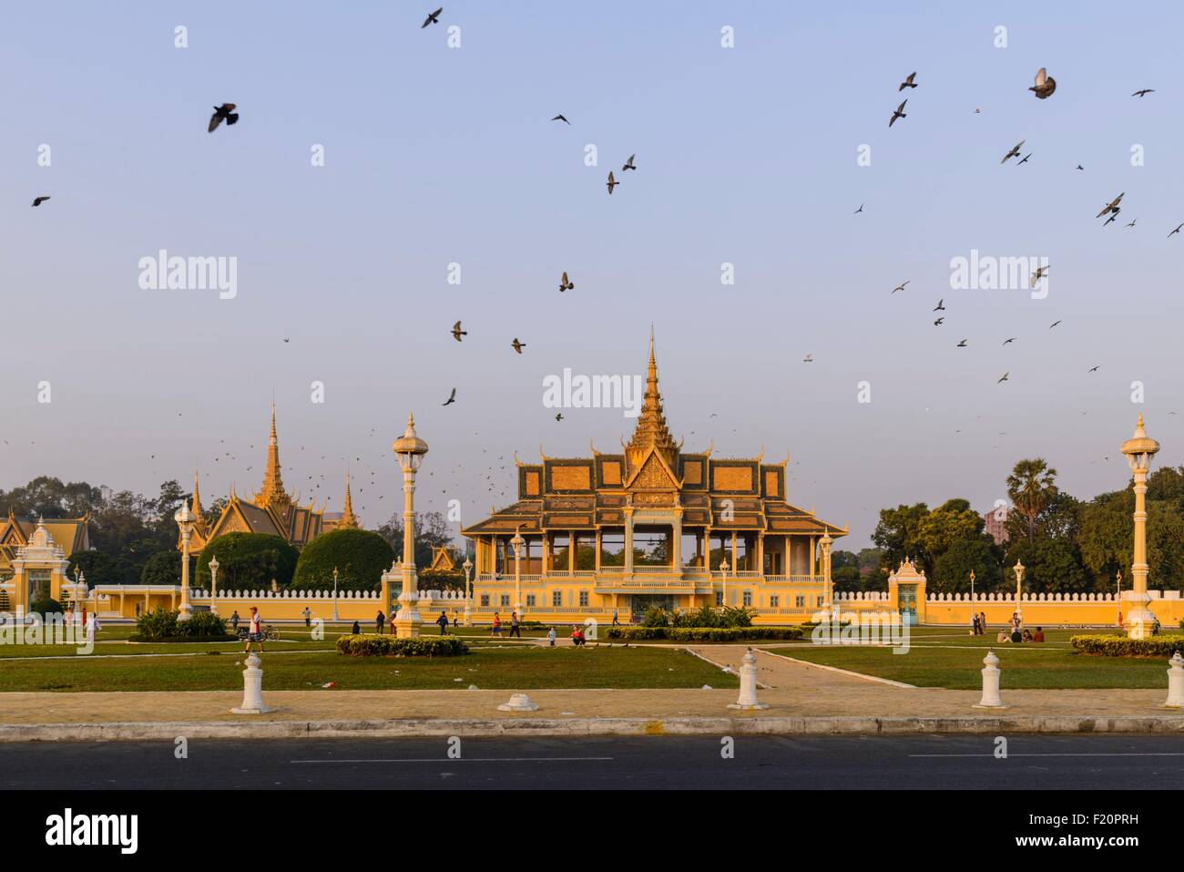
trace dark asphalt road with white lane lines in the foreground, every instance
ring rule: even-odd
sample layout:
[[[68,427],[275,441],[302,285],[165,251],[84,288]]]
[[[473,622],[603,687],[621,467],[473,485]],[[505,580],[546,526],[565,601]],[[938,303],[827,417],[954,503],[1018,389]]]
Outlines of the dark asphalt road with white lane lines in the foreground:
[[[194,739],[0,743],[0,789],[1180,789],[1184,737]]]

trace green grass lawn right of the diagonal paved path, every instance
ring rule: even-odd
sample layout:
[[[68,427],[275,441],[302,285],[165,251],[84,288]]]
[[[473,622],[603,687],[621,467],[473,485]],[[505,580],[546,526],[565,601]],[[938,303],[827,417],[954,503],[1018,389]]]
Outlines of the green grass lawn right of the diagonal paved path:
[[[907,654],[864,646],[761,645],[798,660],[862,672],[918,687],[977,690],[983,686],[983,658],[993,649],[999,658],[1004,688],[1125,687],[1167,690],[1165,658],[1100,658],[1077,654],[1069,636],[1111,633],[1111,629],[1045,630],[1043,645],[999,645],[991,636],[971,636],[957,629],[914,628]],[[1184,636],[1182,649],[1184,649]]]

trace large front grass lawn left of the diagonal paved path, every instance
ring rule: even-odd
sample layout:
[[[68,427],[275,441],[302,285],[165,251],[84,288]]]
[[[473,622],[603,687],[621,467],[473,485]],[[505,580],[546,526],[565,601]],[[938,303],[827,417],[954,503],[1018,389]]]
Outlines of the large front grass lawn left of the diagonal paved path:
[[[175,646],[165,646],[174,648]],[[733,675],[674,648],[541,648],[482,645],[459,658],[347,658],[335,652],[263,656],[271,691],[321,690],[539,690],[591,687],[738,687]],[[207,656],[26,660],[0,669],[11,691],[231,691],[243,687],[239,650]],[[332,691],[327,690],[326,693]]]

